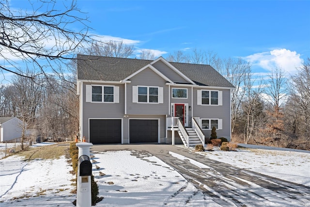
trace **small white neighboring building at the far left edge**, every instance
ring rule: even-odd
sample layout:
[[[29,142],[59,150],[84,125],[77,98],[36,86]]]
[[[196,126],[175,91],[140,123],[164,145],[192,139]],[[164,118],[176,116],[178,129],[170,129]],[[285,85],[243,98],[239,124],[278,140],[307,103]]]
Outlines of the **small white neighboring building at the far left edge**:
[[[16,117],[0,117],[0,142],[21,138],[22,124]]]

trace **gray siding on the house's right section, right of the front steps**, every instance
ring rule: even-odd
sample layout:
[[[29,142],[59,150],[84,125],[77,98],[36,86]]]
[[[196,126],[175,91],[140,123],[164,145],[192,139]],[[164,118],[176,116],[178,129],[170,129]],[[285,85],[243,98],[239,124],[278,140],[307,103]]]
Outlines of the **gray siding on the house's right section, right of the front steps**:
[[[230,90],[221,90],[223,92],[223,105],[222,106],[201,106],[197,105],[197,90],[201,90],[199,88],[194,88],[193,90],[193,116],[200,117],[201,119],[222,119],[223,125],[222,129],[217,129],[217,137],[225,137],[230,138],[231,135],[231,119],[230,119]],[[203,89],[205,90],[205,89]],[[212,89],[215,90],[215,89]],[[206,137],[210,137],[211,129],[202,130]]]

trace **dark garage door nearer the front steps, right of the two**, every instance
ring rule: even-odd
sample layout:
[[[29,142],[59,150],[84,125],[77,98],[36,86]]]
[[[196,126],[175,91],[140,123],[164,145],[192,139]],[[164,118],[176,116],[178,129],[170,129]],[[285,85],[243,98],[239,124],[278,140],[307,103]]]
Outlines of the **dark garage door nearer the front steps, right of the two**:
[[[158,143],[158,120],[130,119],[129,143]]]

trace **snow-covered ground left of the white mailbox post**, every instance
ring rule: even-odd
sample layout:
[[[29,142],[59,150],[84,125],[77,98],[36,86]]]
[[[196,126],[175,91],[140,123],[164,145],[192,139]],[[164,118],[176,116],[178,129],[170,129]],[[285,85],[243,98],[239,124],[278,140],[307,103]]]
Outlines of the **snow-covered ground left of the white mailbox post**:
[[[75,176],[70,170],[64,156],[29,161],[17,156],[1,159],[0,206],[72,205],[75,196],[70,193],[74,189],[71,179]]]

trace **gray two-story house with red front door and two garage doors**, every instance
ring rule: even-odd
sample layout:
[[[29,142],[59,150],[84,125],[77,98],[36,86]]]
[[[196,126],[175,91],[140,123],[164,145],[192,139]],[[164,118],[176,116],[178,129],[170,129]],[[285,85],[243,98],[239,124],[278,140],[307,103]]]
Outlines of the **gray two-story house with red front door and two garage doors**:
[[[80,136],[99,143],[231,137],[234,86],[210,65],[78,55]]]

